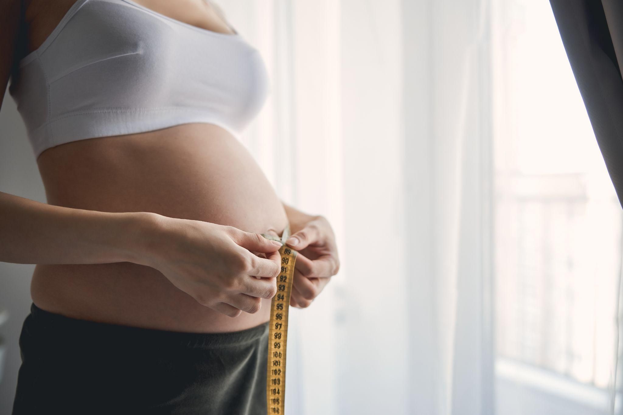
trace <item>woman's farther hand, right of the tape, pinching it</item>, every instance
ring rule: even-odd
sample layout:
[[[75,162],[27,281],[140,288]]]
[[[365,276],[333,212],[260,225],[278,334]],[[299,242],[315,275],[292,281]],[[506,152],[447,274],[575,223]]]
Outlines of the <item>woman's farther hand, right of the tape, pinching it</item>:
[[[335,235],[326,218],[317,216],[285,243],[298,251],[290,305],[303,309],[312,304],[340,270]]]

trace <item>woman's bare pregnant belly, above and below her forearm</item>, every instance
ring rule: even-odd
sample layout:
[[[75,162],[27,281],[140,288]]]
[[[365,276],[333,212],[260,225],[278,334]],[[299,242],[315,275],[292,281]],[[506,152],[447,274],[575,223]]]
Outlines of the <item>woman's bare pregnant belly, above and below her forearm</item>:
[[[249,152],[211,124],[70,142],[37,162],[52,205],[155,212],[277,235],[287,225]],[[162,330],[227,332],[269,320],[270,300],[232,319],[133,263],[37,265],[31,294],[42,309],[68,317]]]

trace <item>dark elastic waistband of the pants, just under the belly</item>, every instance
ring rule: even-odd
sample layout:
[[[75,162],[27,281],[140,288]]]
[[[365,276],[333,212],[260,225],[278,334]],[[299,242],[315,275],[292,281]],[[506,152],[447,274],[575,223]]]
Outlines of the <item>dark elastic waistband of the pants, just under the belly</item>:
[[[239,347],[265,339],[269,332],[269,322],[250,329],[221,333],[172,332],[159,329],[145,329],[126,325],[108,324],[90,320],[74,319],[61,314],[40,309],[32,303],[31,314],[27,317],[36,328],[42,340],[71,338],[72,342],[151,343],[159,347],[184,348],[222,348]]]

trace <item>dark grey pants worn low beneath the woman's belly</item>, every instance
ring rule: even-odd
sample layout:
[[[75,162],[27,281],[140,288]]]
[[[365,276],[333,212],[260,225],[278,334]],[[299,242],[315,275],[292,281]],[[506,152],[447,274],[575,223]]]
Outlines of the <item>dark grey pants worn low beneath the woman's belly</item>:
[[[32,304],[13,414],[265,415],[268,328],[167,332]]]

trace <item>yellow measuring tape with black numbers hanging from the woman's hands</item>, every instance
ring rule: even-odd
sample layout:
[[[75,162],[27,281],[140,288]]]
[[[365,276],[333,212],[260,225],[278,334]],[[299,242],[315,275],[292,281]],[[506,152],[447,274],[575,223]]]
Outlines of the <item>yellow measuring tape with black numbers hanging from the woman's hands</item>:
[[[285,245],[285,241],[290,236],[290,224],[283,230],[281,238],[265,233],[262,233],[262,236],[283,243],[279,249],[281,271],[277,277],[277,294],[270,303],[269,358],[266,368],[267,413],[283,415],[285,414],[285,350],[288,342],[288,310],[290,309],[290,292],[292,292],[297,251]]]

